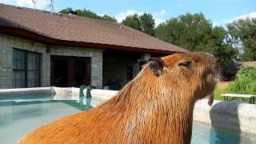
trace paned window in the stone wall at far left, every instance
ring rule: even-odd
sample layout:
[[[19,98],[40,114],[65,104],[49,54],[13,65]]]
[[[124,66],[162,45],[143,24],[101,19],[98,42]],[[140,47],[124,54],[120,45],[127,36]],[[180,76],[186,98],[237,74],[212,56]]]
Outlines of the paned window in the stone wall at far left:
[[[13,51],[13,87],[40,86],[40,54],[25,50]]]

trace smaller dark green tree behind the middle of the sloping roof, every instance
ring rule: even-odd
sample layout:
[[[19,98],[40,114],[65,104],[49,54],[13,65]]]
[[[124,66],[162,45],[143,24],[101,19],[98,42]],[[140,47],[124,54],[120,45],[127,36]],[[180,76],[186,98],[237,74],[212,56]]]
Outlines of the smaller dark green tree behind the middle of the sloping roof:
[[[135,30],[140,30],[143,33],[155,36],[154,34],[154,18],[152,14],[132,14],[127,16],[123,21],[123,25],[129,26]]]

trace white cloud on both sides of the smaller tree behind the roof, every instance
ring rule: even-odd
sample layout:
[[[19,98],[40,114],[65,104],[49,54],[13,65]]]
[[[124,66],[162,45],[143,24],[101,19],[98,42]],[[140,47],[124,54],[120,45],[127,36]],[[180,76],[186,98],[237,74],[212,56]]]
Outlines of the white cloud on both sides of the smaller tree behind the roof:
[[[116,14],[114,18],[116,18],[118,22],[122,22],[122,20],[124,20],[128,15],[131,15],[131,14],[142,15],[144,14],[144,12],[136,11],[136,10],[126,10],[126,12],[120,12]],[[166,14],[166,10],[160,10],[152,14],[154,18],[155,26],[158,26],[161,22],[165,21],[164,19],[160,18],[164,14]]]

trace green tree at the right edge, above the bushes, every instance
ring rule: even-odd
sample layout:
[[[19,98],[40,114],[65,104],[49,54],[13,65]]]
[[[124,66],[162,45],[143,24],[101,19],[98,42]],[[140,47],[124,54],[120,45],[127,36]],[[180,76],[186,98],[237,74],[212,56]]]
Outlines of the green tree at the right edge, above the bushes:
[[[240,19],[226,27],[230,44],[242,51],[242,61],[256,61],[256,18]]]

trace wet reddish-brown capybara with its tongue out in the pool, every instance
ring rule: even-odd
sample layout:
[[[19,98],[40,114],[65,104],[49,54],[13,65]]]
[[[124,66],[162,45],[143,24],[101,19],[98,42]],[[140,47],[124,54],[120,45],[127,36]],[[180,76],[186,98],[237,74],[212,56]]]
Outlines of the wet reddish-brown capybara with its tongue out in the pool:
[[[151,58],[114,98],[41,126],[20,143],[190,143],[194,103],[217,82],[211,54]]]

